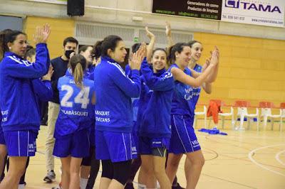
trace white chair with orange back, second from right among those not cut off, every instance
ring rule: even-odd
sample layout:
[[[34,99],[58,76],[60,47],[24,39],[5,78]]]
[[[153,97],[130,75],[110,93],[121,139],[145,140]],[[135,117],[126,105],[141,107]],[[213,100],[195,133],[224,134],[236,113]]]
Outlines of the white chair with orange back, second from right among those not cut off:
[[[257,131],[259,131],[259,109],[255,114],[249,114],[247,112],[247,107],[250,106],[250,103],[247,101],[238,100],[235,102],[235,107],[237,107],[237,117],[240,119],[239,126],[236,126],[236,130],[244,130],[244,117],[247,117],[247,129],[250,129],[251,121],[249,118],[257,118]]]

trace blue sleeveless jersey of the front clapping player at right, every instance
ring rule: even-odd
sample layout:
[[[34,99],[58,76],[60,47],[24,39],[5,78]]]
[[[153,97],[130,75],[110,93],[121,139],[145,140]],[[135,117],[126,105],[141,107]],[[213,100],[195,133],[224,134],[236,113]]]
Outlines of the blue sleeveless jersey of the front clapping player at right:
[[[179,67],[176,64],[172,64],[169,68],[171,72],[172,68]],[[190,69],[185,68],[185,74],[192,75]],[[187,115],[191,116],[194,114],[193,101],[192,101],[193,88],[190,85],[186,85],[180,81],[175,80],[174,94],[172,97],[171,114]]]

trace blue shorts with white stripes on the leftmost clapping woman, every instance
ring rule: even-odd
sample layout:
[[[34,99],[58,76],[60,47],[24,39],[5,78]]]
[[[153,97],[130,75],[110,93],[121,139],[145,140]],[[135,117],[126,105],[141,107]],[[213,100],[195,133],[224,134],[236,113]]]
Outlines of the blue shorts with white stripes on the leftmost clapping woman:
[[[4,131],[8,156],[35,156],[36,131]]]

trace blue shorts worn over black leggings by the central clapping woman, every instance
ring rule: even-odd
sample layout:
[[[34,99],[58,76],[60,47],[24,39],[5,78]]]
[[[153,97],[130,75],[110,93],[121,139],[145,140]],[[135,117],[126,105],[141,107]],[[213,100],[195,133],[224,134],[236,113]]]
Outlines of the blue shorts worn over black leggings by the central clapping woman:
[[[132,133],[95,131],[96,159],[113,163],[137,158],[137,150]]]

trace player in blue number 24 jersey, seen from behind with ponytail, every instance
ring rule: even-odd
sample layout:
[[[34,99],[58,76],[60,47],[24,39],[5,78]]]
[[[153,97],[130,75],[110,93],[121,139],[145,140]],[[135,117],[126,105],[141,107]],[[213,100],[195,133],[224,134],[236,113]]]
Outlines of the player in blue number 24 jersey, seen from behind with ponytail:
[[[89,156],[89,129],[93,125],[94,82],[85,79],[86,59],[73,55],[71,75],[60,77],[58,91],[60,112],[56,121],[53,155],[61,158],[63,188],[79,188],[83,157]]]

